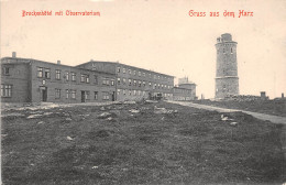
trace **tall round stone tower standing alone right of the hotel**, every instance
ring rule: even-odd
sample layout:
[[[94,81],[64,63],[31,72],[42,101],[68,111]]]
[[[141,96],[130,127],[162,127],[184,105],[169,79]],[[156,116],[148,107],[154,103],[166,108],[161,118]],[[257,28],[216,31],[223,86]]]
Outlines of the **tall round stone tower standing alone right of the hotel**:
[[[237,44],[229,33],[217,39],[216,99],[239,95]]]

